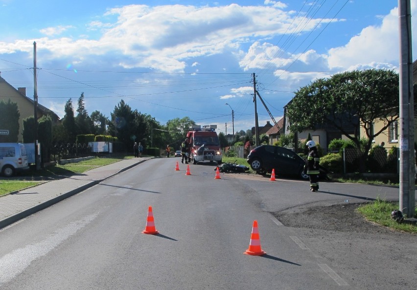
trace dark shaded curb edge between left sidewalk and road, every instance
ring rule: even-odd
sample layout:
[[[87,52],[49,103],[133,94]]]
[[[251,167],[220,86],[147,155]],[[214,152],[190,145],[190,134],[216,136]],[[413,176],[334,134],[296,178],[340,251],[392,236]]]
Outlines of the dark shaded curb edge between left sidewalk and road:
[[[130,165],[128,167],[122,168],[122,169],[118,170],[116,173],[111,174],[111,175],[109,175],[109,176],[107,176],[105,178],[98,179],[98,180],[94,180],[94,181],[90,181],[87,184],[85,184],[83,186],[80,186],[79,188],[76,188],[74,190],[71,190],[71,191],[69,191],[67,193],[62,193],[62,194],[60,194],[60,195],[58,195],[58,196],[56,196],[56,197],[54,197],[52,199],[49,199],[49,200],[47,200],[47,201],[45,201],[43,203],[40,203],[40,204],[35,205],[35,206],[31,207],[31,208],[28,208],[28,209],[26,209],[26,210],[24,210],[24,211],[22,211],[20,213],[17,213],[17,214],[15,214],[13,216],[6,217],[6,218],[0,220],[0,229],[2,229],[4,227],[6,227],[6,226],[8,226],[8,225],[10,225],[10,224],[18,221],[18,220],[20,220],[22,218],[28,217],[28,216],[33,215],[33,214],[35,214],[35,213],[37,213],[37,212],[39,212],[39,211],[41,211],[43,209],[46,209],[47,207],[49,207],[51,205],[54,205],[54,204],[56,204],[56,203],[58,203],[58,202],[60,202],[60,201],[62,201],[64,199],[66,199],[66,198],[74,195],[74,194],[77,194],[77,193],[80,193],[82,191],[85,191],[86,189],[89,189],[89,188],[93,187],[94,185],[97,185],[100,182],[103,182],[107,178],[113,177],[116,174],[119,174],[119,173],[121,173],[123,171],[126,171],[128,169],[134,168],[135,166],[137,166],[137,165],[145,162],[146,160],[149,160],[149,159],[140,160],[137,163],[132,164],[132,165]],[[33,187],[35,187],[35,186],[33,186]]]

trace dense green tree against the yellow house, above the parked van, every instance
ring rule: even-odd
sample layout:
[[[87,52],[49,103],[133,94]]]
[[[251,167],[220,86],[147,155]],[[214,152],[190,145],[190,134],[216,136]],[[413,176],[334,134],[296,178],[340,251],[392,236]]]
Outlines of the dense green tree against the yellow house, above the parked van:
[[[19,108],[17,103],[0,102],[0,129],[9,130],[9,135],[0,135],[0,142],[16,143],[19,140]]]

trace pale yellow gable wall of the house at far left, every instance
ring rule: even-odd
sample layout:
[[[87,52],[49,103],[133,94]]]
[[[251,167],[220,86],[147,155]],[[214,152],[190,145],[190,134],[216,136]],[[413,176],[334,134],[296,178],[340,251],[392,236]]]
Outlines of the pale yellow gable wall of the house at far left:
[[[0,101],[8,102],[10,99],[11,102],[17,103],[20,118],[19,118],[19,135],[18,135],[18,142],[23,142],[23,120],[28,117],[33,117],[34,113],[34,106],[33,103],[30,102],[28,99],[23,97],[23,95],[16,90],[15,88],[0,82]],[[43,116],[42,111],[38,110],[38,119]],[[7,129],[1,128],[0,129]]]

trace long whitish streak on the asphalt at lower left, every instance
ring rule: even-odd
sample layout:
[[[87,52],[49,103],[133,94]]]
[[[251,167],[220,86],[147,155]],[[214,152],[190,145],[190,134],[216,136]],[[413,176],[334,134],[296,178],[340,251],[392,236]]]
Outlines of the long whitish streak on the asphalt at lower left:
[[[45,240],[35,244],[26,245],[23,248],[16,249],[13,252],[0,258],[0,283],[6,283],[24,271],[30,263],[49,251],[54,249],[60,243],[67,240],[78,230],[85,227],[93,221],[98,214],[89,215],[77,221],[71,222],[64,228],[58,229]]]

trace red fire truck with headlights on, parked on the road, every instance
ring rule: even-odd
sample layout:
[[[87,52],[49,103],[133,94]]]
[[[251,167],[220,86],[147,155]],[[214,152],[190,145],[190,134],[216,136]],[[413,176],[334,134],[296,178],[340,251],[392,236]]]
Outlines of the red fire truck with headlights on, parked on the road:
[[[194,125],[187,133],[188,144],[190,144],[190,161],[193,164],[198,162],[222,163],[222,151],[220,149],[219,137],[215,131],[217,125]]]

